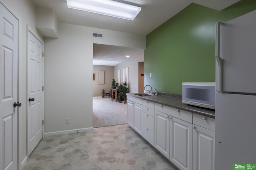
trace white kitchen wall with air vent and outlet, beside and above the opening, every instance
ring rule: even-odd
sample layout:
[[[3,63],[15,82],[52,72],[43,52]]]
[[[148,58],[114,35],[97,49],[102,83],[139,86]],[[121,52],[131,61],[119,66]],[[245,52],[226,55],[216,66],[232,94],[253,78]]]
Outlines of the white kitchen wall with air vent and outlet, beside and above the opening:
[[[102,33],[104,38],[92,33]],[[93,43],[145,49],[146,37],[59,23],[58,39],[44,42],[45,132],[51,133],[92,128]]]

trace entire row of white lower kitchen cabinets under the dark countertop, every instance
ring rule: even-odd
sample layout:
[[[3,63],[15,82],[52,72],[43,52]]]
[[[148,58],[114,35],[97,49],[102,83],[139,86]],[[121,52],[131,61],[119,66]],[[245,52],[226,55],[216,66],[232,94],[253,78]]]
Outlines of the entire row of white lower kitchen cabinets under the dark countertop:
[[[127,122],[180,170],[214,170],[214,118],[128,96]]]

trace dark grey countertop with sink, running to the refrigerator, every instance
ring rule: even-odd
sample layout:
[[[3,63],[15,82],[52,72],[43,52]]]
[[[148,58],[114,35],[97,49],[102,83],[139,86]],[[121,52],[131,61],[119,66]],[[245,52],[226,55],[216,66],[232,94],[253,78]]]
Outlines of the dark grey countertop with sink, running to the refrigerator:
[[[160,92],[161,93],[161,92]],[[162,93],[164,94],[164,93]],[[196,106],[190,106],[188,104],[182,103],[182,98],[180,95],[160,95],[160,96],[138,96],[136,94],[132,93],[127,93],[127,96],[132,96],[136,98],[141,98],[143,100],[148,100],[150,102],[162,104],[165,106],[170,106],[174,107],[176,109],[184,110],[184,111],[189,111],[191,113],[196,113],[199,115],[211,117],[215,119],[215,111],[213,109],[204,109],[201,107],[196,107]]]

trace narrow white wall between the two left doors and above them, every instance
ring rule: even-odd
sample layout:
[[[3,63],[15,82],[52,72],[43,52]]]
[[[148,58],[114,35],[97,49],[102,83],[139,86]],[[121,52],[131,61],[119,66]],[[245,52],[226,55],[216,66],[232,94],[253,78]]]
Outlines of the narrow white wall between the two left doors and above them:
[[[22,115],[20,115],[22,117],[22,123],[21,123],[21,158],[20,160],[23,161],[26,158],[26,113],[27,113],[27,109],[26,109],[26,104],[27,104],[27,75],[26,75],[26,71],[27,71],[27,53],[26,53],[26,49],[27,49],[27,25],[29,25],[35,32],[36,32],[36,19],[35,19],[35,15],[36,15],[36,10],[35,10],[35,6],[31,3],[30,0],[5,0],[5,2],[7,2],[7,4],[14,9],[14,11],[20,16],[21,18],[21,64],[22,64],[22,82],[20,82],[22,84],[22,101],[20,101],[22,103]],[[40,33],[38,33],[38,35],[40,36]],[[42,37],[41,37],[42,38]],[[25,161],[26,162],[26,161]]]

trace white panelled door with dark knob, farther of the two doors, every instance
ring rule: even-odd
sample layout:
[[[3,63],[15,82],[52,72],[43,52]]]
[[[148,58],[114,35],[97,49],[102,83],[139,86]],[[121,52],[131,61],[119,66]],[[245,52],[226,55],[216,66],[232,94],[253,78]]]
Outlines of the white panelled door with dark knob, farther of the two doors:
[[[28,155],[43,137],[44,58],[43,43],[28,30]]]

